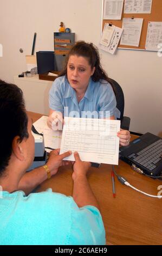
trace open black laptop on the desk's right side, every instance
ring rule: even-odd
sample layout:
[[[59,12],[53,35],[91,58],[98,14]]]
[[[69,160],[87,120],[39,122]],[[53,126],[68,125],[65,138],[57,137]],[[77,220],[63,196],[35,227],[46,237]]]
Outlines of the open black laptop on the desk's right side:
[[[119,149],[121,160],[129,163],[139,173],[150,176],[162,175],[162,138],[145,133],[127,147]],[[142,170],[142,172],[140,172]]]

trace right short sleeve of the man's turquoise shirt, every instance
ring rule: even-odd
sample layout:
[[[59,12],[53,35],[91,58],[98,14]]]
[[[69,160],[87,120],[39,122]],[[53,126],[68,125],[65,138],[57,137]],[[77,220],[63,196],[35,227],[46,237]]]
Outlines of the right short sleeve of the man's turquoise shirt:
[[[69,245],[105,245],[105,228],[100,211],[94,206],[73,204]]]

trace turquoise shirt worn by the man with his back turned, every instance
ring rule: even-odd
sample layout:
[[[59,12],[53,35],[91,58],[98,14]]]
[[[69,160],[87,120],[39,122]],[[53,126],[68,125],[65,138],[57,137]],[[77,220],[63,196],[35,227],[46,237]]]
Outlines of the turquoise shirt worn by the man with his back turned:
[[[53,193],[2,192],[0,245],[105,245],[94,206],[79,208],[72,197]]]

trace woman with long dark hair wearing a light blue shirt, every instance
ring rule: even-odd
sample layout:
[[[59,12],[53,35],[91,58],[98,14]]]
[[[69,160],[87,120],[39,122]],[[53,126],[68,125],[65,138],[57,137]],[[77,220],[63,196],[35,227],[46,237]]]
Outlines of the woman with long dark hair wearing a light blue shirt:
[[[50,89],[49,108],[47,124],[51,129],[57,129],[63,117],[73,117],[74,111],[82,118],[92,118],[92,114],[94,118],[120,117],[111,82],[92,43],[79,41],[70,50],[64,70]],[[120,145],[129,144],[129,131],[120,129],[117,136]]]

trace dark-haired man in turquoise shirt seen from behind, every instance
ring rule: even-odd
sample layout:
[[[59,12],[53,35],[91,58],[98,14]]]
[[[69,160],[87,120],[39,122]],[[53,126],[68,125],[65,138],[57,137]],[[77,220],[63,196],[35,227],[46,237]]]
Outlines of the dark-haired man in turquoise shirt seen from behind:
[[[99,205],[86,178],[90,163],[74,154],[73,197],[50,189],[26,196],[19,187],[34,160],[32,122],[25,111],[22,90],[1,80],[0,115],[0,244],[105,245]],[[47,162],[51,175],[57,173],[63,158],[70,154],[69,151],[59,155],[59,149],[51,151]],[[37,176],[47,176],[43,167],[36,169]],[[36,176],[35,170],[28,173],[28,181]]]

